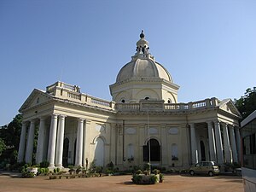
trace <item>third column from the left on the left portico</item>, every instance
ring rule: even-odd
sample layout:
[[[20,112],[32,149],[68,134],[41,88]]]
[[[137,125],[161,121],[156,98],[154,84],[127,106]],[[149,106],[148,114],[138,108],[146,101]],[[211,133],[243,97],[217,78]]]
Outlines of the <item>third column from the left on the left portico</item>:
[[[44,152],[44,130],[45,130],[45,117],[40,118],[39,132],[38,132],[38,148],[36,163],[41,163],[43,161],[43,152]]]

